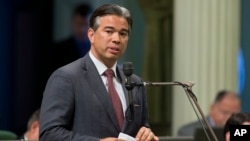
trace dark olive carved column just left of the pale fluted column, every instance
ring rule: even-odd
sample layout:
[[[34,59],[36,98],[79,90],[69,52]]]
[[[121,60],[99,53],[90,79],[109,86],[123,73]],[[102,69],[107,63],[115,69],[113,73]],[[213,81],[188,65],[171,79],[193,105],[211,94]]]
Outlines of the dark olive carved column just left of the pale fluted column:
[[[172,80],[172,0],[138,0],[145,23],[143,78],[148,81]],[[171,88],[148,87],[150,121],[160,132],[170,128]]]

